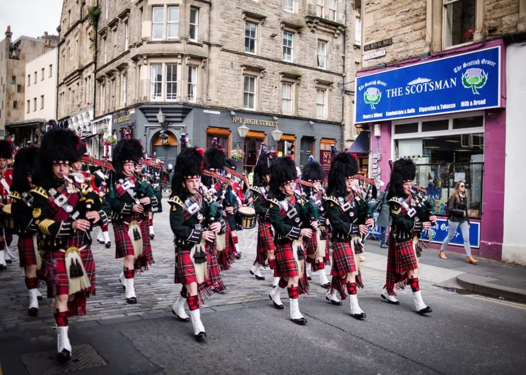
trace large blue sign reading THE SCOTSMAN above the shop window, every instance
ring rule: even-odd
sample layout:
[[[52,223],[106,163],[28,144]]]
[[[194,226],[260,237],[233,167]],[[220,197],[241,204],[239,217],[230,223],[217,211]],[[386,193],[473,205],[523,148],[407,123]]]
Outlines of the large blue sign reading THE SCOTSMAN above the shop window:
[[[500,46],[356,78],[355,123],[501,107]]]

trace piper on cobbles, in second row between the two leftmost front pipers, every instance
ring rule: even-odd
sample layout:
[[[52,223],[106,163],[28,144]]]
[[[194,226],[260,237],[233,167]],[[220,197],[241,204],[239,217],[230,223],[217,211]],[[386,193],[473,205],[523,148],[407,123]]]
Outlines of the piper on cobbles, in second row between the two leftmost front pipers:
[[[148,212],[158,205],[151,185],[136,174],[143,157],[143,146],[137,139],[122,139],[113,150],[115,176],[106,199],[112,207],[115,235],[115,258],[124,258],[119,282],[126,290],[126,302],[136,304],[135,273],[154,264],[151,253]],[[112,176],[113,177],[113,176]]]

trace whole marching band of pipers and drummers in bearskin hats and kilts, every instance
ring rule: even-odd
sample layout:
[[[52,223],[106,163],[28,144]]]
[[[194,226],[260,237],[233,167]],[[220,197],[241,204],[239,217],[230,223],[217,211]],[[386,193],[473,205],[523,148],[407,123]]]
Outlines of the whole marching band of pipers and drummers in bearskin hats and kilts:
[[[274,308],[284,309],[281,294],[286,288],[290,319],[307,324],[298,297],[308,293],[310,264],[311,272],[319,273],[319,286],[328,289],[330,304],[341,306],[341,300],[349,298],[351,316],[366,318],[357,298],[357,289],[364,287],[359,254],[375,226],[375,199],[372,181],[358,177],[356,157],[333,149],[327,178],[320,163],[310,157],[299,179],[291,158],[278,157],[262,143],[250,186],[245,174],[236,171],[235,161],[226,159],[217,139],[204,151],[192,147],[184,135],[185,147],[177,157],[167,199],[174,234],[174,282],[181,284],[172,307],[177,320],[191,321],[198,341],[206,338],[199,307],[204,298],[225,290],[221,273],[241,256],[238,231],[256,227],[250,274],[264,280],[261,269],[272,270],[269,299]],[[112,161],[96,160],[86,155],[72,131],[49,130],[39,147],[17,150],[14,170],[8,168],[12,149],[11,143],[0,141],[0,270],[12,258],[8,247],[16,233],[28,314],[39,313],[42,280],[47,296],[55,298],[57,358],[65,362],[72,357],[69,317],[86,314],[86,298],[95,294],[90,233],[100,226],[97,240],[110,247],[111,222],[115,257],[123,258],[118,280],[126,302],[136,304],[135,275],[155,263],[153,214],[161,209],[166,171],[161,163],[144,161],[137,139],[118,141]],[[411,160],[393,164],[387,194],[392,230],[381,298],[399,304],[395,289],[409,285],[417,312],[429,314],[432,310],[419,288],[418,238],[436,217],[426,192],[412,185],[414,178]],[[331,280],[326,266],[331,266]]]

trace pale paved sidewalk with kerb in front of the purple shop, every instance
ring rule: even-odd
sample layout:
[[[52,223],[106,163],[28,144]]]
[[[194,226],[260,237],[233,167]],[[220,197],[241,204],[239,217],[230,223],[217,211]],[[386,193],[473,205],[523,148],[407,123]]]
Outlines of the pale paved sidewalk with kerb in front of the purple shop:
[[[368,253],[387,257],[387,248],[381,248],[378,241],[368,240],[366,242],[366,261],[362,263],[364,267],[368,266],[368,258],[370,258]],[[472,265],[466,262],[466,256],[462,254],[446,251],[446,256],[447,260],[441,259],[438,257],[437,249],[424,248],[419,259],[420,267],[427,268],[422,269],[423,277],[429,270],[438,270],[438,272],[456,277],[458,286],[468,291],[526,303],[526,267],[484,258],[478,258],[479,263]],[[374,263],[378,261],[376,256],[372,260]],[[373,266],[373,268],[376,267]],[[385,270],[385,264],[383,269]]]

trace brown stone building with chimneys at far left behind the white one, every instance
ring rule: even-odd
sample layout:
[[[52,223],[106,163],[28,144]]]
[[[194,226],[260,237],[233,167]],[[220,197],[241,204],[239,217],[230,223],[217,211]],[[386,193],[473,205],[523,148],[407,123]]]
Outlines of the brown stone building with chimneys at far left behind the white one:
[[[15,41],[12,35],[11,26],[7,26],[0,41],[0,137],[7,136],[10,125],[13,129],[24,127],[18,122],[24,120],[26,112],[26,62],[54,48],[57,42],[57,37],[47,32],[39,38],[21,36]]]

